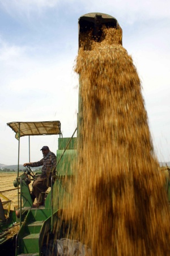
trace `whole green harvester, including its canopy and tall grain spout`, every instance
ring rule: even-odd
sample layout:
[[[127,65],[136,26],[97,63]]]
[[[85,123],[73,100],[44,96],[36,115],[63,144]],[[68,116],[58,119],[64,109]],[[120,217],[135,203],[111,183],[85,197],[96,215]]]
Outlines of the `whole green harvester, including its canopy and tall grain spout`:
[[[92,30],[94,40],[100,42],[101,27],[114,27],[122,30],[115,18],[102,13],[89,13],[79,18],[79,35],[83,32]],[[80,46],[80,37],[79,37]],[[79,85],[80,86],[80,85]],[[76,175],[76,159],[77,144],[80,141],[79,127],[82,121],[82,102],[79,97],[79,114],[78,114],[78,138],[74,137],[76,129],[71,138],[62,138],[61,123],[59,121],[48,122],[11,122],[7,123],[15,132],[15,137],[19,141],[23,136],[33,135],[59,135],[57,150],[57,168],[51,179],[51,189],[45,196],[45,204],[39,208],[32,208],[30,183],[35,180],[38,174],[34,174],[30,169],[26,168],[22,175],[19,175],[19,157],[18,157],[18,175],[14,181],[14,187],[18,190],[18,209],[16,216],[14,211],[9,215],[10,225],[16,222],[20,228],[19,232],[14,236],[12,246],[15,253],[10,253],[6,234],[0,234],[0,248],[2,254],[6,255],[90,255],[83,244],[78,241],[70,241],[67,239],[70,224],[65,220],[61,220],[61,213],[67,207],[67,202],[71,197],[71,183]],[[30,146],[29,146],[30,147]],[[30,149],[29,149],[30,152]],[[18,154],[19,155],[19,154]],[[29,155],[30,162],[30,155]],[[167,193],[170,200],[169,176],[167,183]],[[0,212],[3,212],[3,205],[0,201]],[[6,221],[5,214],[0,215],[2,220]],[[7,222],[6,222],[7,223]],[[7,230],[8,226],[0,224],[0,232]],[[55,233],[55,235],[54,235]],[[57,234],[57,240],[56,240]],[[6,246],[5,246],[6,245]],[[70,247],[69,247],[70,246]],[[3,253],[5,248],[5,253]],[[67,248],[67,250],[66,250]],[[68,251],[73,250],[73,254]],[[76,255],[79,255],[76,254]]]

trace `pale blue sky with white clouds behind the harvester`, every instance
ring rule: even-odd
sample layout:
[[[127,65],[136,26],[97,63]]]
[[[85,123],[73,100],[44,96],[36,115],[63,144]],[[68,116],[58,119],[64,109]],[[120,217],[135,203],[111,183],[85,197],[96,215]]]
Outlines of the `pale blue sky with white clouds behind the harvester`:
[[[141,79],[148,124],[159,162],[170,161],[169,0],[0,0],[0,163],[18,164],[14,121],[61,121],[71,137],[78,113],[78,19],[114,16],[123,46]],[[55,152],[58,136],[31,137],[31,161],[42,146]],[[28,162],[28,137],[20,139],[19,163]]]

